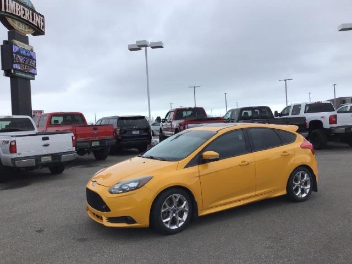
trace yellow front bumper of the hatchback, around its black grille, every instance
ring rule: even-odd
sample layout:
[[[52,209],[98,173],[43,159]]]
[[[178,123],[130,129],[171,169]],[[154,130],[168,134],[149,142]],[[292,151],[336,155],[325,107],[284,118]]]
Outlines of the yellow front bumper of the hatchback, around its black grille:
[[[98,194],[109,209],[102,212],[95,204],[87,202],[86,211],[94,221],[108,227],[148,227],[149,212],[153,202],[153,192],[145,186],[128,193],[110,194],[109,188],[89,181],[86,188]],[[88,200],[88,199],[87,199]],[[135,223],[114,222],[110,219],[130,217]]]

